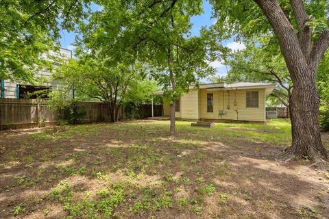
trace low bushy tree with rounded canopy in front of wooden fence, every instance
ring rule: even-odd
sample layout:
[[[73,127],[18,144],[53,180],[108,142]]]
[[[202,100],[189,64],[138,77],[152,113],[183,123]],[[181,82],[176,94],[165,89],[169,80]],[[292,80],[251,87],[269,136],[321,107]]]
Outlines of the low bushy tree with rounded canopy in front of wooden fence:
[[[115,122],[121,106],[141,103],[156,90],[143,74],[140,64],[112,64],[104,57],[85,54],[80,60],[69,60],[60,66],[54,76],[61,79],[62,88],[108,105],[110,121]]]

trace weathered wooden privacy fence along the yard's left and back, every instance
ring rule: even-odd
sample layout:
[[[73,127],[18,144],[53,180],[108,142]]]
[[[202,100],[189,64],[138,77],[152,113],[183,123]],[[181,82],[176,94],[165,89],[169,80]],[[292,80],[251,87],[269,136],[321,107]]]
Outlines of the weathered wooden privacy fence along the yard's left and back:
[[[77,107],[85,112],[82,123],[110,120],[108,107],[99,102],[79,101]],[[119,110],[119,118],[129,118],[131,112]],[[51,109],[47,100],[0,99],[0,130],[56,125],[60,112]],[[151,117],[151,105],[140,105],[134,110],[134,118]],[[154,105],[154,116],[162,115],[162,105]]]

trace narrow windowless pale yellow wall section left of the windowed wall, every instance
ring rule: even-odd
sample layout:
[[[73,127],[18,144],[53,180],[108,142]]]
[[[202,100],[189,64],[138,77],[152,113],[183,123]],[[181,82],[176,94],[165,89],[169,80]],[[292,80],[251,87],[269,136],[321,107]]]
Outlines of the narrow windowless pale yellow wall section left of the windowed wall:
[[[182,118],[190,118],[190,119],[199,119],[199,91],[198,90],[190,90],[187,94],[182,96]]]

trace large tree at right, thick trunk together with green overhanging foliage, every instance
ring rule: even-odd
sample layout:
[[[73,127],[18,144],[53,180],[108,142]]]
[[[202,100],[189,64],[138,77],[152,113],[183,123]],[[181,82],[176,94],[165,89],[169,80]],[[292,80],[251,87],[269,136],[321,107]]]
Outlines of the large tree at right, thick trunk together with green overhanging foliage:
[[[317,68],[329,47],[328,1],[211,1],[221,38],[255,39],[272,34],[293,83],[292,145],[284,156],[322,160],[328,153],[319,131]]]

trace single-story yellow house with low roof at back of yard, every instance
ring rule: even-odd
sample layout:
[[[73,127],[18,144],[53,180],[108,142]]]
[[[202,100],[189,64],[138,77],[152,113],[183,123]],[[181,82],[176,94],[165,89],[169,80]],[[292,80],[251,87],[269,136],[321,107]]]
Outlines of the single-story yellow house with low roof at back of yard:
[[[176,101],[175,118],[180,120],[266,121],[265,99],[276,87],[273,83],[207,83]],[[162,95],[162,91],[154,93]],[[170,116],[169,101],[164,99],[163,116]]]

